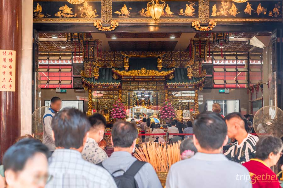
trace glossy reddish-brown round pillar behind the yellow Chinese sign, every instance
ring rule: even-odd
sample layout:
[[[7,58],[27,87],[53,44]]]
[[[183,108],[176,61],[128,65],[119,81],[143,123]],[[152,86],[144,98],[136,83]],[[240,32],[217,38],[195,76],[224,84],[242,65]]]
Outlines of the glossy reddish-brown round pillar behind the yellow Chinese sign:
[[[0,0],[0,48],[16,51],[16,91],[0,91],[0,161],[20,136],[21,125],[21,19],[22,1]]]

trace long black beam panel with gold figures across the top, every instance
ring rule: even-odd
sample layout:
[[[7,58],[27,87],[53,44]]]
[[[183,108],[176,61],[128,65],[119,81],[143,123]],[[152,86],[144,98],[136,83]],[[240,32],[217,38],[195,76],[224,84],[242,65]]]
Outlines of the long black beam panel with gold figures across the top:
[[[52,2],[52,3],[50,3]],[[62,3],[64,2],[64,3]],[[38,0],[33,2],[33,22],[97,22],[110,24],[152,22],[147,12],[147,1],[89,0],[79,5],[65,0]],[[164,14],[158,22],[207,24],[216,22],[282,22],[282,0],[253,0],[235,3],[219,0],[167,1]],[[189,26],[190,24],[188,24]]]

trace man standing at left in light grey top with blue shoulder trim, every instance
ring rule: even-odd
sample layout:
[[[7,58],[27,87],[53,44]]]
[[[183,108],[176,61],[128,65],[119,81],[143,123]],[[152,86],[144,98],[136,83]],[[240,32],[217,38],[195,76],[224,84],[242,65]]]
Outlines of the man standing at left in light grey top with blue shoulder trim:
[[[53,97],[50,101],[50,108],[43,115],[43,138],[42,143],[45,144],[51,153],[55,150],[55,143],[52,138],[51,122],[53,117],[62,108],[62,100],[59,97]]]

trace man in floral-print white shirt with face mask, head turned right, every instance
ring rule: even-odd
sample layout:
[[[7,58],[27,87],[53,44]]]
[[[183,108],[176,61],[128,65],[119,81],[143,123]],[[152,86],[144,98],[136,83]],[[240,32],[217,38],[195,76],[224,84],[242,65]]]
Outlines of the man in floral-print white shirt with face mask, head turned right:
[[[104,159],[108,158],[106,152],[98,145],[103,140],[106,119],[102,114],[95,113],[88,117],[88,120],[91,123],[91,128],[81,154],[83,159],[88,162],[93,164],[101,163]]]

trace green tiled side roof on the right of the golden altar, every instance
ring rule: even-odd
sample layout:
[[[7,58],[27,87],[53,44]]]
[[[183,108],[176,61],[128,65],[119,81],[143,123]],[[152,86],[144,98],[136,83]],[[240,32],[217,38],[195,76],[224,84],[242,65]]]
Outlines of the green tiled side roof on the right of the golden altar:
[[[167,80],[168,86],[196,86],[203,83],[205,77],[192,77],[191,79],[187,76],[186,68],[175,68],[174,78],[172,80]]]

